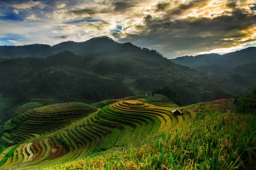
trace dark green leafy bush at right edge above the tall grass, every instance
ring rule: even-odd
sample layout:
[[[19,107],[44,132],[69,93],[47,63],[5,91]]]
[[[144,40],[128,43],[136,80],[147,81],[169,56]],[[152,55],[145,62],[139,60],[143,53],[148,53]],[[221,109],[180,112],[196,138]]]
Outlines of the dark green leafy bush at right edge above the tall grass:
[[[235,97],[235,109],[240,113],[256,112],[256,88],[247,94],[241,94]]]

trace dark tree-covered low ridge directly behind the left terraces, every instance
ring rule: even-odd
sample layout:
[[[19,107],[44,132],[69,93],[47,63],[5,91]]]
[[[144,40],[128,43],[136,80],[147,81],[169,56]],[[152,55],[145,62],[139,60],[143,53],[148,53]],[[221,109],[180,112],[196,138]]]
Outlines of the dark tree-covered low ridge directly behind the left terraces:
[[[50,94],[56,99],[74,101],[77,99],[122,98],[131,92],[118,81],[100,79],[90,74],[84,76],[68,75],[64,71],[40,72],[38,77],[27,77],[29,81],[10,79],[0,85],[3,97],[13,97],[16,102],[23,102],[37,94]],[[29,97],[30,96],[30,97]]]

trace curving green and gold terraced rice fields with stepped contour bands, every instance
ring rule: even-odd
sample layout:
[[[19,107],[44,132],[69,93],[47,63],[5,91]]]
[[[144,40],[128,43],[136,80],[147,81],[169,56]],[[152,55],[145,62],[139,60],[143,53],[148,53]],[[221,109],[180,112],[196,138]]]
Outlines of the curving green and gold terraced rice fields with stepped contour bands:
[[[10,147],[0,155],[5,161],[0,169],[44,169],[82,159],[93,149],[142,141],[195,118],[194,112],[174,116],[172,109],[125,98],[102,109],[68,103],[26,111],[13,119],[17,127],[2,136]],[[6,153],[12,156],[4,160]]]

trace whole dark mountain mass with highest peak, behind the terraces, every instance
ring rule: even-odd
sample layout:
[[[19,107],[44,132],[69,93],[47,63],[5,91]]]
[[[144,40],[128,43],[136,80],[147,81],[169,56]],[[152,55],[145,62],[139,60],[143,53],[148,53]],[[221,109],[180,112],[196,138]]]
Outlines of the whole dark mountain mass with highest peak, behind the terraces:
[[[250,81],[237,82],[234,77],[210,76],[189,68],[191,65],[175,64],[156,50],[118,43],[109,37],[62,42],[52,47],[1,46],[0,57],[0,93],[22,96],[19,101],[38,96],[96,101],[151,95],[154,88],[168,86],[175,93],[175,101],[186,105],[232,97],[254,85]],[[193,57],[180,60],[186,58]],[[197,65],[195,61],[187,63]]]

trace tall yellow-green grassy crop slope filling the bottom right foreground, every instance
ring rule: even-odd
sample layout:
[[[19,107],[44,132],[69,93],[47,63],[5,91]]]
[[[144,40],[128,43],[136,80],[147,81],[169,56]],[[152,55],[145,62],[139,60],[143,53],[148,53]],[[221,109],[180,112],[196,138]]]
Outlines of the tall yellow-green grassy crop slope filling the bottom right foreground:
[[[256,116],[212,113],[154,139],[50,170],[253,169]]]

